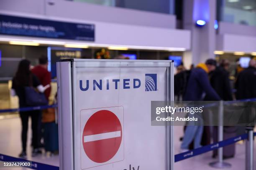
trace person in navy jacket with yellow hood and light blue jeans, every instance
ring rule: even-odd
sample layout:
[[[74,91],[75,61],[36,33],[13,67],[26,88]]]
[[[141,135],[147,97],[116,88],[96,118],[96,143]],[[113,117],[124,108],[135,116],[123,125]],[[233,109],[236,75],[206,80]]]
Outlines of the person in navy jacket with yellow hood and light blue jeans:
[[[205,94],[208,95],[211,100],[220,100],[219,95],[210,85],[210,81],[207,75],[210,71],[215,70],[216,66],[214,63],[216,63],[215,60],[209,59],[206,61],[206,64],[200,63],[196,68],[192,69],[189,75],[186,91],[184,92],[184,101],[202,101]],[[189,145],[193,140],[194,148],[201,147],[203,126],[195,126],[193,122],[189,123],[182,140],[181,152],[188,151]]]

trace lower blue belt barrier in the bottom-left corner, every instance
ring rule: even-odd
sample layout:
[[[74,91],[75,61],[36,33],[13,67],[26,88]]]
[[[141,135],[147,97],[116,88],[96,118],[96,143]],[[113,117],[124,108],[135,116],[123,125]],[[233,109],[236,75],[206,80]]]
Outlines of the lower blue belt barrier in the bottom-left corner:
[[[31,160],[25,160],[25,159],[22,159],[22,158],[15,158],[15,157],[12,157],[12,156],[0,154],[0,161],[23,162],[23,161],[31,161]],[[44,163],[38,163],[38,162],[31,161],[31,164],[32,164],[31,169],[34,169],[34,170],[59,170],[59,167],[57,167],[57,166],[47,165],[47,164],[44,164]]]

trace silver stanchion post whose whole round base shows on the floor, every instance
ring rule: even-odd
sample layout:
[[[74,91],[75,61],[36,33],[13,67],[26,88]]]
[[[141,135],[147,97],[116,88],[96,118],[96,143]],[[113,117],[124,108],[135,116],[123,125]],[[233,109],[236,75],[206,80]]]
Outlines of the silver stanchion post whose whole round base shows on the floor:
[[[219,110],[218,110],[218,118],[219,118],[219,126],[218,126],[218,141],[223,141],[223,112],[224,112],[224,102],[220,100]],[[230,163],[223,162],[223,148],[218,148],[218,161],[212,162],[209,164],[213,168],[230,168]]]

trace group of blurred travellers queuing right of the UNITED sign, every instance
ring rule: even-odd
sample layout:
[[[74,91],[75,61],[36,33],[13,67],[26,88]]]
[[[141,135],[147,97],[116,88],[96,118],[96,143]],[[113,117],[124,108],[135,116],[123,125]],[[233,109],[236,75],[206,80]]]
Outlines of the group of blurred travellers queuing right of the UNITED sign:
[[[242,68],[239,64],[236,68],[234,83],[229,76],[230,63],[221,60],[208,59],[205,63],[199,63],[195,68],[191,66],[186,70],[183,65],[177,68],[174,76],[174,95],[176,100],[183,101],[231,101],[250,99],[256,97],[256,58],[252,58],[248,68]],[[212,127],[212,138],[218,141],[218,129]],[[238,127],[225,126],[224,138],[236,136]],[[192,148],[200,148],[210,144],[210,128],[207,126],[187,125],[184,128],[181,152]],[[217,155],[213,153],[213,157]],[[223,157],[231,158],[235,155],[235,145],[223,148]]]

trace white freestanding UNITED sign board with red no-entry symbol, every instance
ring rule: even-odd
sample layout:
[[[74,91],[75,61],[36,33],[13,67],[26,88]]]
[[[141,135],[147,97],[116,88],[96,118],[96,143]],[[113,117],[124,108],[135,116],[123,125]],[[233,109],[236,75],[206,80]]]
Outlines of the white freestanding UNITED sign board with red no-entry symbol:
[[[172,74],[168,60],[57,62],[60,169],[172,170],[172,127],[151,126]]]

